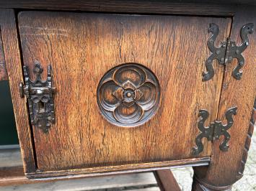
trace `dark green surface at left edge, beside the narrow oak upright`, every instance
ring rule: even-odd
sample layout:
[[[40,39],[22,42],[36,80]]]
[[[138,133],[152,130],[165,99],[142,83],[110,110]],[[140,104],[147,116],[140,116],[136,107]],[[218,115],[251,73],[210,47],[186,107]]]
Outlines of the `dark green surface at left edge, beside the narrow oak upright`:
[[[0,145],[19,144],[8,81],[0,81]]]

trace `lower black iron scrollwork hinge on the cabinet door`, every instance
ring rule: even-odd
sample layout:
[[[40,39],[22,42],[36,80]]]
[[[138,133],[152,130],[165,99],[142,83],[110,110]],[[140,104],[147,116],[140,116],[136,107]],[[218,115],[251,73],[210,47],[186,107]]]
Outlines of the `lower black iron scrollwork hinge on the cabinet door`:
[[[222,141],[220,144],[219,149],[224,152],[227,151],[229,149],[229,145],[227,143],[230,139],[230,134],[227,130],[233,125],[234,120],[232,116],[236,114],[237,107],[229,108],[225,113],[227,121],[226,125],[223,125],[221,121],[214,121],[210,124],[210,126],[205,127],[204,123],[208,118],[209,113],[207,110],[201,109],[198,115],[200,117],[200,120],[198,121],[198,129],[201,131],[201,133],[195,139],[196,146],[193,147],[193,155],[197,155],[200,152],[203,152],[202,139],[204,137],[208,139],[208,141],[213,141],[219,139],[219,137],[223,135],[224,141]]]

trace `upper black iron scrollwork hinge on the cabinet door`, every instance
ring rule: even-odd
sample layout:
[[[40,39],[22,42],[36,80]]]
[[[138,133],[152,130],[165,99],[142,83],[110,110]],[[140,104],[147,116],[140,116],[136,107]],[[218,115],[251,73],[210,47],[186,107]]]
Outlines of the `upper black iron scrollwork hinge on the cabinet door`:
[[[208,33],[211,33],[211,37],[209,37],[207,45],[209,50],[211,50],[211,55],[206,60],[206,70],[207,72],[203,73],[203,81],[210,80],[213,78],[214,70],[212,62],[213,60],[218,60],[220,65],[226,65],[231,63],[233,58],[237,58],[238,65],[234,68],[232,75],[237,80],[242,78],[242,71],[240,69],[244,65],[244,57],[242,56],[242,52],[249,45],[248,34],[252,34],[253,32],[253,24],[245,24],[241,31],[240,36],[242,39],[242,44],[237,46],[236,42],[231,41],[230,38],[227,38],[226,42],[221,42],[220,47],[215,47],[214,43],[216,37],[219,34],[219,26],[217,24],[211,23],[208,28]]]

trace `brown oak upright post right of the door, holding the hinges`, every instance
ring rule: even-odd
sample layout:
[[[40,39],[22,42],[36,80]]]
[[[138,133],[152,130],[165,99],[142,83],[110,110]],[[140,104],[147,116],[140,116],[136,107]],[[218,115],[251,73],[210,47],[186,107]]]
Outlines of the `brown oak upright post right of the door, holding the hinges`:
[[[256,25],[255,9],[247,7],[237,12],[231,29],[231,39],[237,44],[241,42],[240,29],[244,24],[254,23]],[[231,76],[232,70],[237,66],[237,60],[226,66],[224,73],[224,84],[221,93],[218,119],[224,120],[224,113],[227,108],[237,106],[237,115],[234,116],[234,124],[229,129],[231,139],[229,141],[230,149],[228,152],[219,150],[219,141],[213,142],[212,162],[207,168],[196,167],[195,174],[205,185],[214,187],[226,187],[242,177],[241,161],[245,158],[244,146],[247,142],[247,134],[252,127],[250,119],[252,116],[253,103],[256,93],[256,32],[250,34],[250,42],[247,50],[243,52],[245,64],[242,67],[243,75],[241,80],[235,80]],[[249,148],[248,148],[249,149]],[[228,165],[226,165],[228,164]]]

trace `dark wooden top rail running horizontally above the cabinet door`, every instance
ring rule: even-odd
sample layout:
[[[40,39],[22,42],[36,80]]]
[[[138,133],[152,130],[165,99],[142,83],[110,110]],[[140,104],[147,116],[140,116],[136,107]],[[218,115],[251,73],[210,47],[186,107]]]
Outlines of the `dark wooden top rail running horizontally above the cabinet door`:
[[[240,2],[246,2],[237,0]],[[248,0],[250,1],[250,0]],[[230,3],[230,4],[229,4]],[[253,1],[250,1],[253,4]],[[231,16],[237,7],[235,1],[155,1],[155,0],[9,0],[0,1],[2,8],[16,9],[55,9],[55,10],[79,10],[79,11],[104,11],[119,13],[151,13],[151,14],[196,14],[196,15],[216,15]]]

